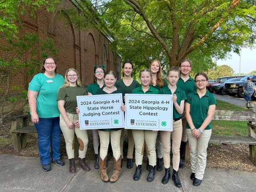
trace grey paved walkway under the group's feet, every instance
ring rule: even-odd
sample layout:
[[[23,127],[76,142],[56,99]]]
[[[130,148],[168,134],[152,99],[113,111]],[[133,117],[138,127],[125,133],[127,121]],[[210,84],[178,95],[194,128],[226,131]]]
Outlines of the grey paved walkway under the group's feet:
[[[157,172],[154,181],[146,181],[148,171],[143,165],[139,181],[134,181],[135,168],[127,169],[126,162],[122,174],[116,183],[104,183],[99,176],[99,169],[93,168],[93,160],[87,164],[91,170],[84,172],[77,168],[75,174],[68,172],[65,166],[52,164],[50,172],[43,172],[39,158],[16,157],[0,154],[0,191],[1,192],[255,192],[256,173],[241,171],[225,171],[223,169],[206,169],[201,186],[193,186],[189,179],[191,174],[187,168],[180,169],[179,177],[182,188],[174,186],[172,179],[164,185],[161,183],[165,171]],[[78,162],[76,161],[76,164]],[[113,163],[109,162],[108,175],[111,176]]]

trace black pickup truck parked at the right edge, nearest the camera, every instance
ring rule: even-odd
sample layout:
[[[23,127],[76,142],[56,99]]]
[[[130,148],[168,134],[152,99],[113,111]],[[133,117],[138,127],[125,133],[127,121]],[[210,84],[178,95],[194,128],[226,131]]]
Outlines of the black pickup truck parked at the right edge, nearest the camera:
[[[224,91],[227,92],[229,96],[237,96],[239,98],[244,97],[243,84],[244,81],[247,81],[247,77],[250,77],[251,81],[256,84],[256,75],[249,75],[242,78],[240,81],[226,83],[224,87]],[[255,96],[252,96],[252,99],[256,100]]]

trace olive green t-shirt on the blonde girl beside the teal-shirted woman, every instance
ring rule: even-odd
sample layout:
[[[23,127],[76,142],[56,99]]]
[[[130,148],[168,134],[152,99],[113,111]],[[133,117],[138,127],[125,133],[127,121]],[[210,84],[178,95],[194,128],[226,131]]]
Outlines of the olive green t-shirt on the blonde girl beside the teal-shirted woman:
[[[82,87],[61,87],[57,100],[65,100],[64,108],[66,112],[76,114],[76,96],[82,95],[85,95],[85,89]]]

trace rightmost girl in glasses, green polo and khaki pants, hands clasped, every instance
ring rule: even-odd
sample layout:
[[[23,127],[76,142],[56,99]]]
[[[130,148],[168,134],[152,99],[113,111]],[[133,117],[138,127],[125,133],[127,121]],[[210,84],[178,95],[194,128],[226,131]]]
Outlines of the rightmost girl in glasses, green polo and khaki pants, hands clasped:
[[[196,91],[187,94],[185,102],[186,133],[189,140],[190,163],[194,186],[199,186],[204,177],[207,147],[212,134],[212,118],[215,112],[216,99],[206,86],[208,77],[205,73],[195,76]]]

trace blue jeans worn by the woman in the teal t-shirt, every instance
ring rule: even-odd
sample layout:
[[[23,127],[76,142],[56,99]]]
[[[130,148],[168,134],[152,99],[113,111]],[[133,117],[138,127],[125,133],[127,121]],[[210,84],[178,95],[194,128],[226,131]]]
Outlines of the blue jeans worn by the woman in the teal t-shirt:
[[[60,118],[39,118],[39,123],[35,124],[38,132],[38,151],[42,165],[50,163],[50,144],[52,160],[61,157],[61,128]]]

